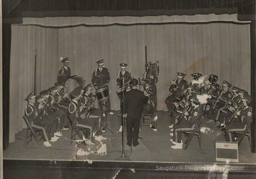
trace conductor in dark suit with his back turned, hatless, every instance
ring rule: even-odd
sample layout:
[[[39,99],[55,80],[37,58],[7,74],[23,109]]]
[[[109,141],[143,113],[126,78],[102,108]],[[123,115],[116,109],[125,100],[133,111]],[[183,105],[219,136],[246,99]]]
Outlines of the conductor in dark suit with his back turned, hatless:
[[[130,84],[132,90],[125,93],[123,114],[127,117],[127,145],[131,146],[133,142],[133,146],[137,146],[142,107],[148,102],[148,96],[137,89],[137,79],[132,79]]]

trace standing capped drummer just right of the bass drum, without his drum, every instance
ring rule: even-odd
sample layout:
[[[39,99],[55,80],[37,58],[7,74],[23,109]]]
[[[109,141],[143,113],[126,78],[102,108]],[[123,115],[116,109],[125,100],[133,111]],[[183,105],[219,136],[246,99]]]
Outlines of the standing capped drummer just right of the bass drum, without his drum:
[[[103,66],[104,65],[103,59],[98,60],[96,63],[98,64],[98,68],[96,68],[92,72],[92,84],[93,84],[95,90],[99,90],[103,87],[106,87],[107,91],[109,93],[108,84],[109,84],[110,76],[109,76],[108,69]],[[98,104],[99,104],[99,108],[102,110],[103,109],[102,101],[98,101]],[[106,101],[106,109],[109,114],[111,114],[111,115],[114,114],[111,111],[109,98]]]

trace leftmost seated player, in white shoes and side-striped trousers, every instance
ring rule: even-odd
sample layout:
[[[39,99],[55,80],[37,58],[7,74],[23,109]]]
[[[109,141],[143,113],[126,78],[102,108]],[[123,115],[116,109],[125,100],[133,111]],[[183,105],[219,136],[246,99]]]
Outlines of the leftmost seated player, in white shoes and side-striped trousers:
[[[57,131],[56,124],[58,120],[49,120],[46,114],[40,113],[35,106],[35,95],[31,92],[25,99],[28,102],[25,108],[25,115],[34,130],[39,130],[43,135],[44,145],[51,146],[50,142],[54,142],[58,137],[54,135]]]

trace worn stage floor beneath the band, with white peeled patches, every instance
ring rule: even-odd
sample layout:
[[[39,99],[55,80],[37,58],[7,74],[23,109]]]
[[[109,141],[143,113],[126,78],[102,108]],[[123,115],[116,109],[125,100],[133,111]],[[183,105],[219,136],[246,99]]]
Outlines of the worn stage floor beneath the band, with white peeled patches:
[[[71,129],[62,131],[61,136],[56,142],[51,142],[51,147],[38,146],[35,139],[28,143],[27,147],[23,147],[26,130],[16,134],[16,140],[9,144],[9,147],[3,151],[4,159],[32,159],[32,160],[105,160],[114,161],[121,155],[122,134],[118,132],[119,123],[117,111],[114,115],[108,115],[110,128],[116,134],[112,134],[109,130],[103,135],[107,140],[95,141],[93,146],[76,147],[73,142],[70,145]],[[168,126],[170,117],[168,112],[159,111],[157,121],[157,132],[154,132],[149,126],[143,126],[139,136],[139,145],[132,147],[130,155],[131,161],[151,161],[151,162],[188,162],[188,163],[225,163],[216,162],[215,160],[215,141],[224,140],[224,132],[220,128],[215,127],[215,123],[206,123],[203,120],[201,125],[202,131],[202,149],[199,150],[197,137],[194,136],[188,148],[173,149],[170,141],[170,128]],[[125,137],[126,138],[126,137]],[[183,137],[183,141],[184,137]],[[41,141],[42,142],[42,141]],[[53,149],[54,148],[54,149]],[[106,150],[106,153],[105,153]],[[125,152],[130,154],[131,148],[126,145]],[[255,164],[256,153],[251,153],[247,137],[244,137],[239,146],[239,163]]]

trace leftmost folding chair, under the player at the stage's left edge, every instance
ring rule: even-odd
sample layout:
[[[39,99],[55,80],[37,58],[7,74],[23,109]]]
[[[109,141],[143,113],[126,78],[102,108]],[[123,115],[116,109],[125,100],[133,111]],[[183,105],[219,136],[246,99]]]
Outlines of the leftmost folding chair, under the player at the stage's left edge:
[[[43,135],[41,134],[41,132],[37,129],[33,129],[32,126],[30,125],[30,122],[28,121],[28,118],[24,115],[23,119],[25,120],[26,124],[27,124],[27,134],[26,134],[26,141],[25,141],[25,146],[28,145],[28,142],[32,141],[32,135],[35,137],[37,143],[39,146],[42,146],[42,144],[40,143],[40,140],[42,140]],[[37,133],[39,133],[37,135]],[[38,136],[41,135],[41,138],[39,139]],[[28,137],[30,137],[30,140],[28,140]]]

